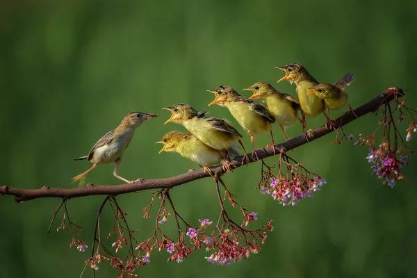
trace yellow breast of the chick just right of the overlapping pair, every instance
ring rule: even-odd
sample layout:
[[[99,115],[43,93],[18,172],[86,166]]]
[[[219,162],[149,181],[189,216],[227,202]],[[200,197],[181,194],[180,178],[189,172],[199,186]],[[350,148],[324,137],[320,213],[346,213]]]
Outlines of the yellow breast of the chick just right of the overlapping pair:
[[[271,130],[271,124],[243,101],[233,101],[224,104],[231,115],[249,135],[256,135]]]

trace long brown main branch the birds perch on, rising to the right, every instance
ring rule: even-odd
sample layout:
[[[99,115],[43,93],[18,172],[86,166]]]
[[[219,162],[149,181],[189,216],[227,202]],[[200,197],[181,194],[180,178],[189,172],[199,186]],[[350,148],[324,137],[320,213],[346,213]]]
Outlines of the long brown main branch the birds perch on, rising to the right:
[[[404,92],[402,89],[393,87],[388,88],[384,92],[377,95],[377,97],[371,99],[366,104],[359,106],[358,108],[354,109],[354,113],[347,111],[341,117],[338,117],[335,122],[336,128],[344,126],[356,120],[363,115],[368,113],[377,111],[379,106],[382,104],[386,104],[389,101],[393,100],[395,97],[404,96]],[[356,116],[355,116],[356,115]],[[284,152],[295,149],[304,145],[308,142],[316,140],[322,136],[325,136],[328,133],[332,133],[334,129],[326,129],[325,126],[321,126],[317,129],[313,130],[313,136],[307,140],[304,135],[297,136],[283,142],[281,144],[275,145],[275,150],[284,149]],[[276,154],[275,154],[276,153]],[[265,149],[259,149],[256,151],[259,159],[267,158],[270,156],[279,155],[279,152],[274,152],[273,147],[268,147]],[[242,161],[243,157],[239,156],[236,158],[235,161],[231,161],[233,164],[233,168],[240,167],[240,161]],[[250,159],[249,163],[256,162],[254,159]],[[212,167],[211,168],[213,174],[215,176],[220,177],[222,174],[225,174],[222,166]],[[126,193],[137,192],[141,190],[149,190],[149,189],[164,189],[164,188],[173,188],[175,186],[180,186],[184,183],[189,183],[190,181],[195,181],[196,179],[203,179],[206,177],[211,177],[209,174],[205,173],[203,169],[197,169],[190,172],[186,172],[184,174],[180,174],[175,177],[165,178],[165,179],[147,179],[145,181],[136,181],[134,183],[124,183],[115,186],[95,186],[89,184],[84,188],[49,188],[47,186],[43,186],[42,188],[38,189],[25,189],[25,188],[16,188],[11,186],[0,186],[0,195],[13,195],[17,202],[28,201],[31,199],[38,199],[38,198],[46,198],[46,197],[56,197],[56,198],[63,198],[63,199],[71,199],[76,197],[85,197],[90,195],[121,195]]]

